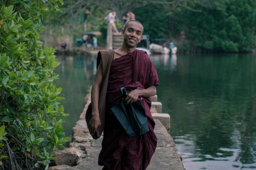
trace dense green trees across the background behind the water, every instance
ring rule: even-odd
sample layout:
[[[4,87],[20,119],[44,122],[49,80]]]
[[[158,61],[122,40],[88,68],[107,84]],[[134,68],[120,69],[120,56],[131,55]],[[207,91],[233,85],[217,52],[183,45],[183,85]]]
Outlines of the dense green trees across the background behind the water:
[[[128,11],[143,23],[151,40],[172,39],[180,50],[245,52],[255,46],[254,0],[78,0],[69,1],[62,14],[45,22],[51,27],[62,25],[72,29],[68,34],[101,31],[105,40],[106,21],[110,10],[117,13],[117,27],[123,26],[122,16]],[[49,26],[47,26],[49,28]],[[59,28],[55,32],[59,32]],[[163,42],[158,42],[163,43]]]

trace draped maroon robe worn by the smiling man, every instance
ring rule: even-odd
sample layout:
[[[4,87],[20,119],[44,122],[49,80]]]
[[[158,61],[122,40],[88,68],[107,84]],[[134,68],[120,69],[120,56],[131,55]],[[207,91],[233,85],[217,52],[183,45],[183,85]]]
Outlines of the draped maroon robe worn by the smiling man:
[[[109,111],[120,102],[121,87],[130,91],[159,85],[157,72],[149,56],[141,50],[113,60],[106,94],[105,127],[102,150],[98,164],[103,170],[145,170],[155,151],[157,138],[153,131],[154,120],[150,98],[140,98],[148,118],[149,131],[143,135],[129,137],[119,121]]]

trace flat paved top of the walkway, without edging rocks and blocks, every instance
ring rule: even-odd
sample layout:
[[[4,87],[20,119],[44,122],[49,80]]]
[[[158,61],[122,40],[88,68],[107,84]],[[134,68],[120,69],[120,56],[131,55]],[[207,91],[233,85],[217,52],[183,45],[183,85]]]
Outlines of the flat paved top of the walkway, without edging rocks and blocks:
[[[184,170],[170,134],[158,119],[155,119],[155,123],[154,131],[158,138],[157,148],[147,170]],[[94,147],[86,148],[87,157],[80,159],[79,164],[69,170],[102,170],[103,167],[98,165],[101,142],[102,137],[92,140]]]

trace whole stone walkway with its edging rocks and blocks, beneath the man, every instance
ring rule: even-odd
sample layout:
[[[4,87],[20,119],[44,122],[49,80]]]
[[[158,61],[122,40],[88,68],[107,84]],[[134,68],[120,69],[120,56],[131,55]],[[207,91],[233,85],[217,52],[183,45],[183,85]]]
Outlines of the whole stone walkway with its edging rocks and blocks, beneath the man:
[[[67,144],[67,149],[53,151],[52,155],[57,159],[53,161],[48,170],[101,170],[98,165],[98,156],[101,151],[102,138],[94,140],[88,133],[85,114],[90,101],[90,94],[85,98],[86,105],[80,119],[72,129],[72,141]],[[182,156],[178,155],[173,139],[168,130],[170,128],[170,116],[159,114],[162,112],[161,102],[157,102],[157,96],[152,97],[152,116],[155,120],[154,132],[158,143],[147,170],[185,170],[182,164]]]

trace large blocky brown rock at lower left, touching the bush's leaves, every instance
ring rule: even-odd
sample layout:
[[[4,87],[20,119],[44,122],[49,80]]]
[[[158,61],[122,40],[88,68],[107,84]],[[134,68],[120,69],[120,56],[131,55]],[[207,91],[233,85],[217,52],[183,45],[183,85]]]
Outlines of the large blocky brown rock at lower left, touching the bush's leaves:
[[[53,160],[56,165],[77,165],[76,161],[78,158],[77,152],[85,153],[85,151],[71,147],[66,148],[65,150],[55,150],[52,152],[52,155],[57,159]]]

